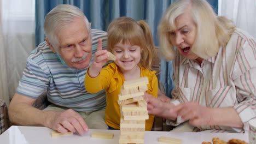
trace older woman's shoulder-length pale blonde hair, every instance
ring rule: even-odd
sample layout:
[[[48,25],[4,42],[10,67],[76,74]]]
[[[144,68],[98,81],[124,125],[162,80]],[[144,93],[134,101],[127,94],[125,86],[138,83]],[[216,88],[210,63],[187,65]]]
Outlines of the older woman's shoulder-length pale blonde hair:
[[[191,50],[201,58],[216,56],[219,47],[225,46],[235,31],[232,21],[216,16],[207,1],[178,0],[166,10],[158,26],[160,50],[167,61],[175,56],[168,31],[176,29],[175,19],[187,10],[190,11],[197,31]]]

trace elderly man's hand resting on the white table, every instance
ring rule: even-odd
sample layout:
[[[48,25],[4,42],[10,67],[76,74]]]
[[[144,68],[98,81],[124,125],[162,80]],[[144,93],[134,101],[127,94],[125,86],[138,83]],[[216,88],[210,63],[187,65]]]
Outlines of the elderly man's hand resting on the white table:
[[[49,128],[59,131],[60,133],[67,133],[77,131],[80,135],[83,135],[88,131],[88,125],[84,119],[72,109],[63,112],[54,112],[51,116]]]

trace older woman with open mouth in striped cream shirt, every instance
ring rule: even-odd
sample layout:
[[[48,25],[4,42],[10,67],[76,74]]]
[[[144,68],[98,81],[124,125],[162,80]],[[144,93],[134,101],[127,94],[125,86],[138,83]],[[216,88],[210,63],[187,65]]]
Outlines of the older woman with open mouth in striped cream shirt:
[[[145,95],[149,113],[167,118],[174,131],[248,130],[256,117],[255,39],[205,0],[174,2],[158,28],[175,87],[168,102]]]

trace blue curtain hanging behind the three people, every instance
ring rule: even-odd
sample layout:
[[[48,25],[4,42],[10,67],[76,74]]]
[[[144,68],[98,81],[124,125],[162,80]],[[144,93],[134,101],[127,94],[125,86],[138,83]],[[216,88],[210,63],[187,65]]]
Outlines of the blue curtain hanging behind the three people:
[[[158,46],[157,26],[162,14],[174,0],[38,0],[36,1],[36,38],[35,44],[44,41],[44,17],[58,4],[72,4],[84,11],[84,14],[95,29],[107,30],[109,23],[120,16],[132,17],[135,20],[146,20],[152,29],[154,43]],[[208,0],[217,13],[218,1]],[[161,62],[160,81],[170,97],[173,88],[172,63]]]

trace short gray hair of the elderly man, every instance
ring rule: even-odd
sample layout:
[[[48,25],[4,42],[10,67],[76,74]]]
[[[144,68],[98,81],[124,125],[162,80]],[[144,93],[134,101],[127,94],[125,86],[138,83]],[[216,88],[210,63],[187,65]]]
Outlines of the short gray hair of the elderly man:
[[[84,19],[88,33],[91,35],[91,28],[88,19],[84,15],[83,11],[74,5],[57,5],[45,16],[44,34],[56,51],[57,47],[60,46],[57,33],[59,33],[63,27],[70,25],[70,23],[72,23],[77,17]]]

